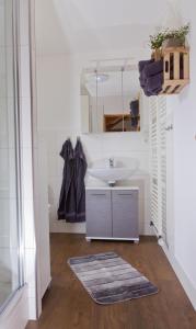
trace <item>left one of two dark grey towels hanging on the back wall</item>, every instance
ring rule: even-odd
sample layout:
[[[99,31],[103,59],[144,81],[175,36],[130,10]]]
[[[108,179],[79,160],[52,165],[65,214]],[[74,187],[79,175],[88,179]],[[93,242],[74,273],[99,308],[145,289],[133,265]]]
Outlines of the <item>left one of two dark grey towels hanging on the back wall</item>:
[[[76,220],[76,192],[74,192],[74,157],[71,140],[62,145],[60,151],[64,164],[62,184],[60,191],[58,219],[66,219],[68,223]]]

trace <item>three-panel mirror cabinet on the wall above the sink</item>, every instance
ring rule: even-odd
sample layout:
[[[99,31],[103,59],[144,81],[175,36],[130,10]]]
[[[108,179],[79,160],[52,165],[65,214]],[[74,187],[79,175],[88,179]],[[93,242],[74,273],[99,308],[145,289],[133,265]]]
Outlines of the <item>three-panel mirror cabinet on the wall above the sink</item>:
[[[81,73],[82,133],[140,131],[137,66],[128,59],[92,63]]]

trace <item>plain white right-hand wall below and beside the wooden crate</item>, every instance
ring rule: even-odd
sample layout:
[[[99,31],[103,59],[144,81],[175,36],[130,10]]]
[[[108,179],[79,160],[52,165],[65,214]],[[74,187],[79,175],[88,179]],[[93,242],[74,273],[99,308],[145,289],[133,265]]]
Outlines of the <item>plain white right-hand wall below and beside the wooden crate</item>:
[[[174,251],[177,273],[196,308],[196,21],[195,1],[178,1],[183,22],[191,22],[191,84],[168,98],[174,115]]]

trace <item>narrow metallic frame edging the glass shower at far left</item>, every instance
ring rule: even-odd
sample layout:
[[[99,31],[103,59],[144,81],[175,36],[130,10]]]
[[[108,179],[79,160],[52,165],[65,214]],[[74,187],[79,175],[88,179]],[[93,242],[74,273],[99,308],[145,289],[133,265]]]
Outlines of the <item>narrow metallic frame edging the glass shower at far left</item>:
[[[0,314],[7,308],[18,291],[24,286],[24,231],[22,216],[22,184],[21,184],[21,116],[20,116],[20,67],[19,67],[19,0],[12,0],[12,77],[13,77],[13,129],[14,129],[14,160],[16,185],[16,236],[18,236],[18,287],[10,293],[7,300],[0,305]]]

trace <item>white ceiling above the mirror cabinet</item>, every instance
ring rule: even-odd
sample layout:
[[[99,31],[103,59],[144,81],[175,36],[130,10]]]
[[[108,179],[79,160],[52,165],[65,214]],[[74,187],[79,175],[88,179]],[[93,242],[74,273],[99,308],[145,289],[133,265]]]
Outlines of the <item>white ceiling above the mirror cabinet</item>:
[[[39,54],[148,49],[175,0],[35,0]],[[172,21],[171,19],[171,21]]]

